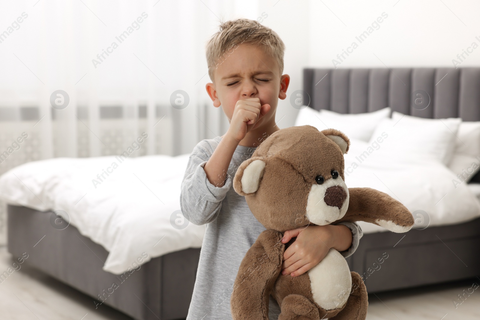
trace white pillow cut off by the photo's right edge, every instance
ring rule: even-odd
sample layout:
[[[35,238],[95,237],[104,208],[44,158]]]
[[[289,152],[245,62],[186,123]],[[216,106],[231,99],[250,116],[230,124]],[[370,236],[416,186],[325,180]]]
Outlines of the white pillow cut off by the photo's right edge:
[[[480,170],[480,121],[460,123],[457,137],[456,149],[448,167],[468,182]]]

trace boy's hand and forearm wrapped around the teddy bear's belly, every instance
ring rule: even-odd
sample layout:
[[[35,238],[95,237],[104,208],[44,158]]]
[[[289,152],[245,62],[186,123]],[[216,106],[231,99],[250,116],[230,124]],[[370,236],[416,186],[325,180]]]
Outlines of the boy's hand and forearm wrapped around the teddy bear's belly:
[[[299,276],[324,259],[330,248],[344,251],[352,245],[352,233],[346,225],[310,225],[303,229],[288,230],[282,243],[297,239],[283,254],[282,274]]]

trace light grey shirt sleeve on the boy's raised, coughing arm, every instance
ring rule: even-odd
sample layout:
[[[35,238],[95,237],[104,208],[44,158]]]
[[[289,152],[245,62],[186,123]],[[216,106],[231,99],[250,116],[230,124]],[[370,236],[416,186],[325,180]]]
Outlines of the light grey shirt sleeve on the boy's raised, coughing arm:
[[[190,155],[181,183],[180,210],[194,225],[204,225],[216,219],[222,200],[232,186],[229,175],[222,187],[216,187],[208,180],[204,166],[212,153],[206,148],[202,150],[197,144]]]

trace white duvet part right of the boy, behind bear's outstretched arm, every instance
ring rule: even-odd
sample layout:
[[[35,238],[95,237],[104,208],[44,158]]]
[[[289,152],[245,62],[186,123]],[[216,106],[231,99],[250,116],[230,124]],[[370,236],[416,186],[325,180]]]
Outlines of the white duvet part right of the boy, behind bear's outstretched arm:
[[[458,182],[456,175],[440,162],[401,160],[374,145],[351,140],[345,154],[345,183],[348,188],[369,187],[402,202],[413,214],[415,228],[458,224],[480,216],[480,201],[474,189]],[[386,231],[359,222],[364,233]]]

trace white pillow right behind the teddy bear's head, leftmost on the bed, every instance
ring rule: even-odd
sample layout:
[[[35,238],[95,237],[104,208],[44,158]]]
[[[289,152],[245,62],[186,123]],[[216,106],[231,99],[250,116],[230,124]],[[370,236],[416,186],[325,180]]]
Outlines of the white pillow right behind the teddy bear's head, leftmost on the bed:
[[[300,109],[295,121],[296,126],[309,124],[318,130],[333,128],[345,133],[348,138],[368,142],[380,120],[390,116],[390,108],[357,113],[341,114],[330,110],[316,111],[311,107]]]

